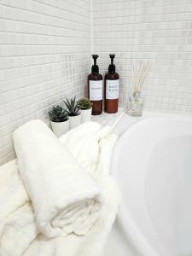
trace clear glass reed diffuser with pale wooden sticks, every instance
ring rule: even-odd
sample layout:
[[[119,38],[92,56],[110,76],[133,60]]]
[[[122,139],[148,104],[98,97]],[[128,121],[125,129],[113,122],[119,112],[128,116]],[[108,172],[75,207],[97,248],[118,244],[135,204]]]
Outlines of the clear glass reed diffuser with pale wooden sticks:
[[[150,62],[140,61],[139,65],[134,65],[131,61],[131,80],[134,85],[133,95],[130,96],[128,113],[133,116],[141,116],[143,113],[143,97],[141,95],[143,84],[147,78]]]

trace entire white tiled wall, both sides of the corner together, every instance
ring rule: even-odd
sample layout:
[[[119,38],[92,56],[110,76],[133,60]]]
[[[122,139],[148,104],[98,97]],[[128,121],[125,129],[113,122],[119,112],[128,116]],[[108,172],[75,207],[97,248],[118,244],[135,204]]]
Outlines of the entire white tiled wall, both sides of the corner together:
[[[144,108],[192,116],[191,0],[0,0],[0,165],[16,127],[84,95],[91,52],[102,73],[116,54],[121,105],[131,61],[150,60]]]

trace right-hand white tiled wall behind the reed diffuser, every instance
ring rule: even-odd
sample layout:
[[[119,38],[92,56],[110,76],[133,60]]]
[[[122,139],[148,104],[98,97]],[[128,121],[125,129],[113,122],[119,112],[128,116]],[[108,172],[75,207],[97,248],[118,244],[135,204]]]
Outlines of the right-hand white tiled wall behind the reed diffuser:
[[[102,73],[116,54],[121,104],[133,91],[131,61],[150,60],[144,108],[192,116],[191,0],[94,0],[93,22]]]

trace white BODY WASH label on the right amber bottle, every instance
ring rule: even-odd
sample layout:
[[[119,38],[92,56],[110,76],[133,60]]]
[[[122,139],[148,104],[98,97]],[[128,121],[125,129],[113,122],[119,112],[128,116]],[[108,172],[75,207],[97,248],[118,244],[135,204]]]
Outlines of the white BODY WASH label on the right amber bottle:
[[[115,100],[119,98],[119,79],[106,80],[106,99]]]

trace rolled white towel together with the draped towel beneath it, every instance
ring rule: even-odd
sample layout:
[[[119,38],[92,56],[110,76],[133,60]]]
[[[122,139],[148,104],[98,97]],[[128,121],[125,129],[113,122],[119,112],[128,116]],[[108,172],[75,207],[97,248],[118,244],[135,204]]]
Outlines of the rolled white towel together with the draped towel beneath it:
[[[39,120],[15,131],[18,160],[0,166],[1,256],[101,255],[120,198],[110,131],[88,122],[58,140]]]

